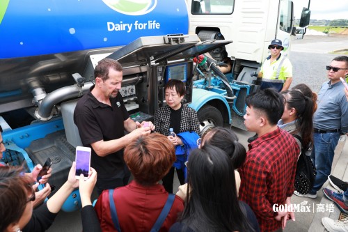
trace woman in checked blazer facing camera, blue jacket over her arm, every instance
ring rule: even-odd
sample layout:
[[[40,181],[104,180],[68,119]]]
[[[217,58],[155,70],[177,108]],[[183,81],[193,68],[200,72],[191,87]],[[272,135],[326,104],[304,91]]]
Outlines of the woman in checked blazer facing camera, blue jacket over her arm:
[[[164,176],[162,183],[169,193],[173,193],[174,169],[180,185],[184,184],[184,162],[187,161],[187,152],[197,148],[196,141],[200,137],[200,128],[197,112],[188,105],[182,104],[185,95],[183,82],[171,79],[164,86],[166,105],[157,109],[155,113],[155,130],[168,137],[175,146],[177,161],[171,170]],[[173,128],[174,134],[169,129]]]

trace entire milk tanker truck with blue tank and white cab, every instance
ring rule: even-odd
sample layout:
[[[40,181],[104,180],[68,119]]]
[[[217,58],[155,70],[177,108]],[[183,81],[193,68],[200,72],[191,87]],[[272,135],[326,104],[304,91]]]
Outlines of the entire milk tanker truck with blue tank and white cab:
[[[6,146],[0,162],[31,171],[50,157],[49,184],[61,187],[82,145],[74,107],[105,57],[122,64],[121,94],[134,121],[151,121],[166,104],[166,82],[180,79],[187,90],[184,104],[198,111],[202,132],[223,124],[243,128],[245,97],[258,90],[249,74],[267,55],[270,40],[290,38],[292,12],[289,0],[0,1],[0,125]],[[260,13],[262,20],[250,17]],[[305,21],[309,13],[304,9]],[[286,33],[280,22],[286,22]],[[219,72],[224,54],[232,60],[226,76]],[[75,190],[62,209],[80,207]]]

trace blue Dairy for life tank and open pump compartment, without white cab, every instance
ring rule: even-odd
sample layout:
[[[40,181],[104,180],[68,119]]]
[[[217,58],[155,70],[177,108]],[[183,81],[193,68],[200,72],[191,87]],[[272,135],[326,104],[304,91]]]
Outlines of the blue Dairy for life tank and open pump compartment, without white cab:
[[[0,161],[31,171],[50,157],[49,184],[61,187],[81,146],[74,107],[93,86],[95,65],[105,57],[122,64],[121,93],[135,121],[152,120],[165,104],[169,79],[184,82],[189,104],[192,58],[228,42],[203,43],[188,32],[184,0],[0,1],[0,123],[6,146]],[[74,191],[63,210],[80,207]]]

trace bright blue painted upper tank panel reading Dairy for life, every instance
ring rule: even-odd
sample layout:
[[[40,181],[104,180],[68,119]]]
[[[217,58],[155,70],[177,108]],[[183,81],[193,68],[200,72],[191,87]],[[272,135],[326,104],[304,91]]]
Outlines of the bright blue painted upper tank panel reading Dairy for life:
[[[3,15],[0,12],[0,59],[116,47],[142,36],[189,33],[184,0],[7,1],[7,9]]]

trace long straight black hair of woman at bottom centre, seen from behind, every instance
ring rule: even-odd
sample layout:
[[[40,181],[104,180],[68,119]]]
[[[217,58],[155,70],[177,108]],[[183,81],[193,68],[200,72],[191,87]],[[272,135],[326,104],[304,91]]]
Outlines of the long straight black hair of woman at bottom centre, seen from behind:
[[[235,170],[223,150],[207,145],[191,151],[187,180],[187,204],[180,217],[184,226],[193,231],[250,231],[237,199]]]

